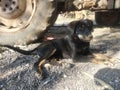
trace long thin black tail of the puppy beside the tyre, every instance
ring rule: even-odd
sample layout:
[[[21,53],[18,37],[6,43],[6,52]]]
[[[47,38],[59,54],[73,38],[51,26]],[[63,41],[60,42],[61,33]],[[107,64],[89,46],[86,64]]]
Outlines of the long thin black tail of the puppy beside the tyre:
[[[35,55],[35,54],[36,54],[35,51],[36,51],[36,49],[37,49],[37,48],[35,48],[35,49],[33,49],[33,50],[26,51],[26,50],[22,50],[22,49],[20,49],[20,48],[13,47],[13,46],[10,46],[10,45],[1,45],[1,46],[10,48],[10,49],[12,49],[12,50],[14,50],[14,51],[17,51],[17,52],[19,52],[19,53],[21,53],[21,54],[24,54],[24,55]]]

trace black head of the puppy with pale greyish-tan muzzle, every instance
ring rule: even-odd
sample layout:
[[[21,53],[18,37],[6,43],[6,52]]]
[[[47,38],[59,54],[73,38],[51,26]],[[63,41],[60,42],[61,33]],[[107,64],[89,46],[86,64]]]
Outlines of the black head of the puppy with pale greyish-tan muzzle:
[[[85,19],[76,23],[73,35],[79,40],[90,42],[93,38],[92,32],[93,22],[91,20]]]

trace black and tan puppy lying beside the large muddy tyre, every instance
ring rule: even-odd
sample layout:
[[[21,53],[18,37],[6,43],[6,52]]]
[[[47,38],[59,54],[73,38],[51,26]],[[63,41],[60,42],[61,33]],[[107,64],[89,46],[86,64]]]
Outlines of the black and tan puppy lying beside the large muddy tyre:
[[[25,55],[37,53],[40,59],[37,63],[37,70],[42,74],[43,65],[52,59],[74,58],[76,53],[86,55],[89,53],[89,45],[92,39],[93,22],[85,19],[69,24],[73,30],[71,35],[61,39],[45,41],[31,51],[24,51],[19,48],[5,45]]]

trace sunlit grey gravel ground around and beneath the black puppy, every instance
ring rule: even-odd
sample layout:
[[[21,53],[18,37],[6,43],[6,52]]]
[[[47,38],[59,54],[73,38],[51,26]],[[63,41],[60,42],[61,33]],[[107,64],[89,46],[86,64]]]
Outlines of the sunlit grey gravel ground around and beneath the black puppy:
[[[120,27],[94,29],[91,47],[115,58],[113,65],[63,59],[66,63],[50,67],[46,79],[41,79],[34,68],[37,55],[4,48],[0,53],[0,90],[120,90]]]

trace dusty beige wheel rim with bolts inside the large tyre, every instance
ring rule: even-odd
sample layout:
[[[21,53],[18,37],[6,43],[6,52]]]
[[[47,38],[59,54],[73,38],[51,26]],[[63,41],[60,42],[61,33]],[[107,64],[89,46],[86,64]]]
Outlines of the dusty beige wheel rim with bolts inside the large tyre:
[[[0,0],[0,33],[24,30],[32,21],[37,0]]]

